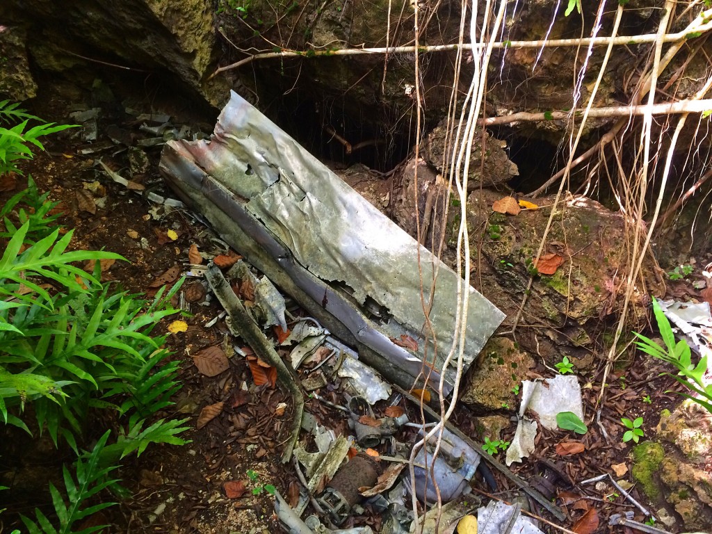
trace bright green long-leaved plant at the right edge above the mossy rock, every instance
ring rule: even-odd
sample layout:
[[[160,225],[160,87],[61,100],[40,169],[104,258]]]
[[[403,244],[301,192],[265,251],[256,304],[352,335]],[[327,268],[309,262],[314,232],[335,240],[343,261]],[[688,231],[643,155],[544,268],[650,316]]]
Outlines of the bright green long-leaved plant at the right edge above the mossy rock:
[[[700,404],[712,414],[712,384],[704,382],[704,375],[707,372],[707,357],[701,357],[697,365],[692,363],[690,346],[685,340],[675,342],[675,334],[672,331],[670,322],[665,317],[659,302],[655,298],[653,299],[653,313],[665,346],[662,347],[648,337],[634,332],[638,337],[637,347],[647,355],[674,365],[678,373],[676,375],[665,374],[676,379],[696,396],[686,393],[679,394]]]

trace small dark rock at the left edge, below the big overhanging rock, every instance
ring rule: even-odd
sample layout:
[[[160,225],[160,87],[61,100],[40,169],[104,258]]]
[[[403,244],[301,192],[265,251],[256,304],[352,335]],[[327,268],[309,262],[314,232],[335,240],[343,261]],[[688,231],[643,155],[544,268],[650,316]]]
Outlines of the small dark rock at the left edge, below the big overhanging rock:
[[[0,25],[0,95],[6,95],[14,102],[34,98],[37,93],[37,84],[27,61],[25,40],[23,28]]]

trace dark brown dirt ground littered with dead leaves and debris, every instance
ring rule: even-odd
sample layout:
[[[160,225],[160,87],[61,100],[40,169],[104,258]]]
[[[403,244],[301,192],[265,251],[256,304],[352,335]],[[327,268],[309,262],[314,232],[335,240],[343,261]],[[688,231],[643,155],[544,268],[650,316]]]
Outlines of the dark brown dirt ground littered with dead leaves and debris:
[[[152,107],[150,100],[138,100],[132,107],[141,107],[140,112],[167,112],[176,125],[188,124],[194,130],[205,131],[205,126],[199,125],[199,121],[207,121],[207,117],[190,117],[185,109],[166,109],[155,104]],[[66,102],[59,97],[54,100],[47,98],[41,105],[39,102],[38,99],[38,109],[31,109],[31,112],[58,122],[70,122],[70,108],[81,103]],[[41,191],[50,192],[51,200],[61,202],[61,224],[75,229],[73,246],[105,248],[120,253],[127,261],[117,262],[108,271],[108,278],[132,292],[150,292],[152,283],[170,268],[179,266],[181,273],[189,269],[189,249],[192,245],[196,245],[205,256],[203,263],[225,251],[221,250],[214,234],[201,223],[199,216],[179,209],[167,213],[164,206],[147,199],[147,192],[173,196],[164,189],[157,171],[161,147],[142,148],[141,151],[147,155],[145,169],[131,169],[130,148],[137,146],[135,141],[150,135],[139,130],[140,124],[134,116],[122,110],[108,112],[108,106],[103,106],[98,140],[83,142],[70,133],[55,137],[46,143],[47,152],[36,155],[25,168]],[[125,144],[112,141],[111,138],[116,139],[119,134],[125,135]],[[105,149],[96,150],[100,146],[105,146]],[[112,181],[99,164],[100,160],[123,177],[130,176],[133,182],[142,184],[145,189],[127,189]],[[15,189],[2,192],[1,199],[4,201],[22,187],[23,180],[18,177]],[[94,201],[94,212],[86,205],[87,192]],[[177,234],[176,239],[167,237],[169,230]],[[184,290],[191,283],[200,282],[199,279],[189,280]],[[281,527],[273,513],[273,497],[264,490],[264,486],[271,484],[283,495],[289,496],[299,483],[293,466],[280,463],[291,408],[282,413],[278,404],[289,402],[288,395],[278,388],[272,389],[268,384],[257,387],[245,358],[239,353],[231,355],[226,372],[216,377],[201,374],[193,364],[192,355],[206,347],[229,346],[231,341],[224,320],[206,325],[221,311],[214,298],[206,305],[192,303],[190,311],[192,315],[184,318],[188,323],[187,332],[169,337],[173,358],[182,362],[184,387],[175,399],[172,411],[163,416],[191,417],[192,426],[196,426],[204,407],[221,402],[224,403],[222,412],[200,429],[189,431],[185,437],[192,440],[190,444],[182,447],[154,446],[139,458],[127,461],[118,475],[132,497],[122,501],[120,506],[108,508],[102,517],[93,519],[112,523],[111,531],[116,533],[279,532]],[[300,314],[295,307],[292,312]],[[571,529],[594,509],[600,518],[600,526],[595,532],[602,533],[609,530],[606,523],[610,515],[631,510],[637,512],[612,486],[592,484],[582,489],[572,485],[585,478],[611,472],[614,464],[630,465],[630,446],[621,442],[624,431],[619,423],[621,417],[644,417],[646,429],[653,429],[661,410],[678,402],[678,397],[666,393],[673,387],[673,382],[667,377],[659,377],[661,367],[655,362],[639,358],[627,364],[629,367],[616,370],[609,379],[609,392],[601,418],[609,433],[609,441],[604,439],[595,423],[590,424],[590,431],[580,439],[561,431],[543,431],[535,453],[523,464],[513,466],[513,472],[530,481],[538,475],[552,478],[547,463],[555,464],[563,473],[554,483],[555,496],[559,497],[557,504],[565,508],[568,519],[563,523],[557,521],[538,506],[532,508],[535,515]],[[544,367],[536,372],[550,376]],[[600,377],[581,376],[580,382],[584,391],[585,414],[590,417],[590,414],[595,414]],[[323,397],[343,404],[340,392],[330,389],[321,392]],[[649,403],[642,401],[646,396],[649,396]],[[305,409],[315,414],[321,424],[334,429],[336,434],[349,432],[342,412],[317,399],[305,399],[305,402]],[[402,404],[402,407],[409,412],[412,420],[419,419],[414,407],[407,404]],[[502,409],[498,414],[510,417],[514,409]],[[377,405],[377,417],[382,416],[383,410],[384,406]],[[477,417],[467,407],[460,406],[453,422],[474,441],[482,443],[485,436],[477,433]],[[503,431],[503,439],[511,441],[514,429],[515,423],[510,422]],[[399,439],[408,442],[413,434],[414,431],[399,434]],[[557,444],[572,440],[580,441],[585,451],[570,456],[557,454]],[[26,454],[26,449],[23,450],[26,446],[31,446],[28,440],[18,441],[1,454],[0,471],[5,474],[12,471],[15,483],[14,489],[4,495],[4,506],[8,511],[2,520],[6,532],[19,525],[16,513],[28,513],[34,506],[41,506],[46,512],[50,509],[46,506],[49,502],[48,495],[44,495],[46,488],[35,486],[38,478],[32,471],[38,466],[31,464],[31,460],[36,460],[38,456],[43,458],[39,468],[45,470],[56,469],[61,458],[50,457],[51,451],[36,450],[33,454]],[[498,459],[503,461],[503,456],[498,454]],[[511,481],[498,474],[495,478],[498,488],[493,490],[481,476],[476,475],[472,482],[473,491],[495,493],[497,498],[505,500],[513,498],[515,488]],[[239,481],[245,483],[244,494],[239,498],[226,496],[225,483]],[[42,498],[39,497],[41,495]],[[632,495],[638,501],[646,502],[637,488],[632,489]],[[637,513],[636,519],[642,520],[643,516]],[[352,523],[372,525],[377,532],[379,521],[378,515],[367,509],[364,515],[353,518]],[[545,531],[555,531],[547,525],[541,526]]]

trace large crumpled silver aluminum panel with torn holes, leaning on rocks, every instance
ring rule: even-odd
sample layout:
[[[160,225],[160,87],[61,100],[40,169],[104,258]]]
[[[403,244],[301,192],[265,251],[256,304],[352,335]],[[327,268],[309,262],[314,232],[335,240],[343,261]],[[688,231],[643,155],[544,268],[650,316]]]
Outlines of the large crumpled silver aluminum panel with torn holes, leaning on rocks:
[[[426,301],[433,297],[437,344],[431,384],[444,373],[445,393],[451,392],[454,366],[442,367],[461,279],[246,100],[232,93],[210,140],[167,142],[160,167],[249,263],[403,387],[427,370],[424,354],[432,360],[434,353],[424,336],[423,286]],[[465,367],[504,318],[468,290]],[[402,335],[417,341],[417,351],[394,342]]]

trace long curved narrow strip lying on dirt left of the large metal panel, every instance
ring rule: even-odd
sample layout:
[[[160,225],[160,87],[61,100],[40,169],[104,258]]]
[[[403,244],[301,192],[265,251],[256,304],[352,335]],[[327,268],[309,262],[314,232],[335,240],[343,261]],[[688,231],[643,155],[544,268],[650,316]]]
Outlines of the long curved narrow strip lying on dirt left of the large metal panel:
[[[287,367],[281,357],[279,357],[271,342],[248,315],[244,305],[240,299],[237,298],[230,284],[225,280],[223,273],[221,273],[220,269],[217,268],[214,263],[211,263],[208,267],[205,272],[205,278],[215,293],[215,296],[230,316],[240,336],[250,345],[258,357],[261,357],[276,368],[278,381],[292,395],[294,402],[294,419],[292,421],[290,438],[282,454],[282,463],[286,464],[286,462],[290,460],[292,449],[299,438],[299,431],[302,426],[302,414],[304,412],[304,397],[294,375],[294,371]]]

